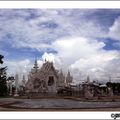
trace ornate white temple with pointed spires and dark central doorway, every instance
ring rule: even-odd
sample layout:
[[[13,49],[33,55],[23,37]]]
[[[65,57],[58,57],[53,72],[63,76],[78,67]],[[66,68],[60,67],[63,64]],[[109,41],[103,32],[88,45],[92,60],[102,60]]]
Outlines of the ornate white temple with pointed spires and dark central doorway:
[[[37,60],[35,60],[34,67],[28,75],[26,93],[56,93],[59,87],[70,82],[72,82],[72,76],[69,71],[65,77],[62,70],[58,71],[54,67],[53,62],[45,60],[45,63],[39,68]]]

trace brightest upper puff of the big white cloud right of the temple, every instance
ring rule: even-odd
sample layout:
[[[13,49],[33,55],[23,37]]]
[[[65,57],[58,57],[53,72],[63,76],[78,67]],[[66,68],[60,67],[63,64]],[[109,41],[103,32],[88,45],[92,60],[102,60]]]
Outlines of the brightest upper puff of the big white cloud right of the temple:
[[[58,52],[58,56],[64,60],[66,59],[66,65],[74,63],[79,58],[90,57],[103,46],[103,42],[92,41],[82,37],[67,37],[53,43],[53,48]]]

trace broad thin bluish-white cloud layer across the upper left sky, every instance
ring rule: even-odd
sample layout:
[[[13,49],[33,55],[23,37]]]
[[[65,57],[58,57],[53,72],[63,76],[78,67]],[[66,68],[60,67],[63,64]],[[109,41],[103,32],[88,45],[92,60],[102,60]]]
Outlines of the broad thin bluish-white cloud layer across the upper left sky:
[[[46,51],[52,49],[51,42],[66,36],[103,37],[105,32],[99,23],[85,18],[94,12],[74,9],[0,10],[0,40],[9,36],[12,47]]]

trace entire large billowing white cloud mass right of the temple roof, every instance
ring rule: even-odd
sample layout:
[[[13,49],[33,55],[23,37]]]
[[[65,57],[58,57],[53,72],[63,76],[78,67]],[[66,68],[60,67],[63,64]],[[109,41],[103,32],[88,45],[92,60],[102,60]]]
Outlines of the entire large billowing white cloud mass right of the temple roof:
[[[118,58],[119,53],[115,50],[106,51],[103,49],[104,46],[103,42],[97,40],[68,37],[53,43],[53,48],[58,52],[54,57],[61,58],[59,59],[62,61],[60,65],[66,71],[70,69],[77,82],[85,80],[88,74],[92,80],[100,80],[101,77],[108,79],[108,66],[111,66],[111,61]],[[80,78],[80,74],[83,78]]]

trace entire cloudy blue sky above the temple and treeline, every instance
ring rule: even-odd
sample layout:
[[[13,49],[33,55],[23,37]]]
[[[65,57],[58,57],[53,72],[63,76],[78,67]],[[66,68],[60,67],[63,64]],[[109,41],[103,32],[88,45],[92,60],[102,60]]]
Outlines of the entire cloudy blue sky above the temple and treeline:
[[[120,9],[0,9],[0,53],[10,75],[46,58],[75,81],[108,80],[120,76],[119,50]]]

